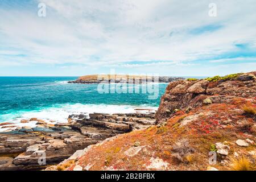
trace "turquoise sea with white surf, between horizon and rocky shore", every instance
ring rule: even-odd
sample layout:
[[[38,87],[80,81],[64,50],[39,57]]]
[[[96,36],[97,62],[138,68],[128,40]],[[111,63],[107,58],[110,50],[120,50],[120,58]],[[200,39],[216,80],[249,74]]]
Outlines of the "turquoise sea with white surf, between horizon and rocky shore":
[[[0,122],[22,118],[59,121],[71,113],[129,112],[135,107],[157,108],[167,84],[159,84],[156,100],[150,93],[98,93],[97,84],[68,84],[77,77],[0,77]],[[117,85],[117,84],[116,84]],[[115,85],[114,85],[115,86]],[[129,85],[142,90],[146,85]]]

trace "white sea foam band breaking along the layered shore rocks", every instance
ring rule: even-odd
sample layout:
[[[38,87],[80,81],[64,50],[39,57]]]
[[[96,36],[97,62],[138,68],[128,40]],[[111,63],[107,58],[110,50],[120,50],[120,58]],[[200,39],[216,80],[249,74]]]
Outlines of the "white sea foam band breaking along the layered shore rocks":
[[[2,115],[2,118],[5,118],[3,122],[12,122],[15,126],[30,126],[35,127],[36,121],[29,123],[20,123],[22,119],[38,118],[43,119],[48,123],[65,123],[68,122],[68,116],[71,114],[80,114],[80,113],[144,113],[146,110],[136,110],[136,109],[152,109],[157,110],[158,107],[150,107],[147,105],[141,106],[131,106],[131,105],[105,105],[105,104],[63,104],[63,105],[53,105],[52,107],[47,107],[44,109],[34,110],[34,111],[19,111],[18,113],[10,113]],[[54,122],[52,122],[54,121]],[[12,128],[15,129],[15,128]],[[5,131],[7,129],[0,129]]]

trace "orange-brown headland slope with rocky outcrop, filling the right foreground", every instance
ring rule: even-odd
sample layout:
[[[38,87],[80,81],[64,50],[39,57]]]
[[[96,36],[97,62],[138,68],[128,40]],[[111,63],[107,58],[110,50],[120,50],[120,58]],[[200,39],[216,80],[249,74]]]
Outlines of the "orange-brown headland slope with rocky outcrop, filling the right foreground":
[[[108,138],[47,170],[255,170],[255,76],[171,82],[158,125]]]

